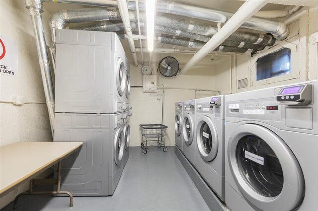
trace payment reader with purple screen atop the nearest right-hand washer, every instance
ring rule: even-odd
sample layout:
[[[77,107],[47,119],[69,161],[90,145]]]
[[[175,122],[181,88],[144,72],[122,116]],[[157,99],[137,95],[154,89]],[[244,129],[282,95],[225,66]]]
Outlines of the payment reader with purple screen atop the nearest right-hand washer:
[[[282,87],[276,100],[282,105],[307,105],[312,102],[312,84]]]

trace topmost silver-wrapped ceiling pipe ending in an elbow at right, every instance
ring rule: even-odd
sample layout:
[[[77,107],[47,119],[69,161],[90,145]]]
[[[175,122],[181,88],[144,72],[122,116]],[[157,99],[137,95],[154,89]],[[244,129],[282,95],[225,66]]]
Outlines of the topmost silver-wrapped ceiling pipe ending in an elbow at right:
[[[142,9],[145,9],[144,4],[140,5]],[[131,3],[129,6],[130,9],[135,9],[134,4]],[[157,12],[217,23],[226,23],[233,16],[233,13],[231,12],[207,9],[176,1],[159,1],[157,2],[156,8]],[[289,29],[284,23],[259,17],[250,17],[241,25],[241,27],[271,33],[277,40],[284,40],[289,35]]]

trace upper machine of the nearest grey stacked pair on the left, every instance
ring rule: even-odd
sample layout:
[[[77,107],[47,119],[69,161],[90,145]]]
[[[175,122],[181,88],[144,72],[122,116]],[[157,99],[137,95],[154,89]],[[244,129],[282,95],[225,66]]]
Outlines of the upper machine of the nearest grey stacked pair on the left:
[[[127,67],[117,34],[61,29],[56,39],[55,112],[123,112]]]

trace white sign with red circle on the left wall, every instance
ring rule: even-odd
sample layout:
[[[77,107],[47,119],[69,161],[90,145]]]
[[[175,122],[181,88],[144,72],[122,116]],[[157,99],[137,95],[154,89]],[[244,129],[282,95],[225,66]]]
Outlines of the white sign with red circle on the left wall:
[[[3,35],[0,36],[0,73],[18,76],[18,47],[16,42]]]

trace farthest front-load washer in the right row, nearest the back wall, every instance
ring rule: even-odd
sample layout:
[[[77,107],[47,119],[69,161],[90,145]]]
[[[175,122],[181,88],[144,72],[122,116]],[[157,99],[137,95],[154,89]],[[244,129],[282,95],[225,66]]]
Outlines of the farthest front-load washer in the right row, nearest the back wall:
[[[175,145],[182,152],[182,118],[183,118],[183,102],[175,103],[174,133]]]

